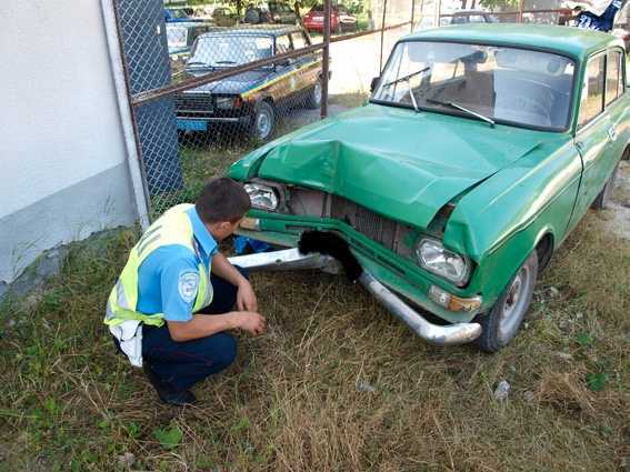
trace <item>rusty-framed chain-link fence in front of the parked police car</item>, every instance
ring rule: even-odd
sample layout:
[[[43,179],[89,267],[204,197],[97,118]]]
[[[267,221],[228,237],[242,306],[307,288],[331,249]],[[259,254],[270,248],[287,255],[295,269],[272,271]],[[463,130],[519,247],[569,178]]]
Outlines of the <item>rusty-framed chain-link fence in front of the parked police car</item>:
[[[262,143],[362,103],[420,0],[117,0],[151,217]]]

